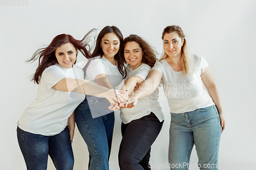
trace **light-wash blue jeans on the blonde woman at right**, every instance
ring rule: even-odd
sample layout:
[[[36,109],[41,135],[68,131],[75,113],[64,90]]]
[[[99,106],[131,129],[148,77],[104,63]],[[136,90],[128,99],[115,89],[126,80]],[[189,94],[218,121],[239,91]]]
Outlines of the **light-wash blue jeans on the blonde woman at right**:
[[[185,113],[171,113],[170,169],[188,169],[195,144],[200,169],[218,169],[221,125],[215,105]]]

